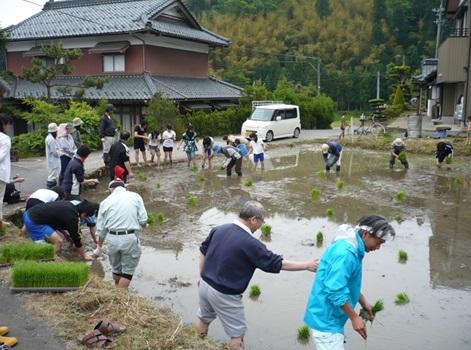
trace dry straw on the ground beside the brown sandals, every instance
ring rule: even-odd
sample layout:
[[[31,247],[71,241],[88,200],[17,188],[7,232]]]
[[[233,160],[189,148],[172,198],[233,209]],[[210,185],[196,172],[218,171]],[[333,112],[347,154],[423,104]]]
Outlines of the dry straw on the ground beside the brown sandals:
[[[200,339],[193,327],[183,325],[171,310],[158,309],[149,300],[99,278],[76,292],[28,294],[25,298],[34,314],[46,318],[58,330],[69,349],[85,349],[77,337],[92,331],[103,319],[127,327],[123,334],[110,335],[113,349],[220,349],[209,340]]]

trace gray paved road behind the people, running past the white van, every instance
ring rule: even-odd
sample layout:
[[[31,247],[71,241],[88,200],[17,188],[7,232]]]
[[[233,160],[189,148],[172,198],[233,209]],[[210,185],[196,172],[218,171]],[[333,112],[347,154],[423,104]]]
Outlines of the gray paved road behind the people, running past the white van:
[[[299,139],[286,138],[275,140],[270,143],[270,147],[283,146],[287,144],[295,143],[304,143],[308,141],[323,140],[335,138],[339,135],[339,130],[303,130]],[[216,143],[223,144],[221,138],[215,139]],[[199,149],[202,149],[202,146],[199,146]],[[87,173],[91,173],[103,167],[103,160],[101,158],[101,151],[93,152],[87,158],[85,162],[85,169]],[[134,160],[134,151],[131,150],[131,159]],[[148,155],[148,159],[150,159]],[[174,160],[175,161],[184,161],[186,155],[182,150],[174,151]],[[43,188],[46,185],[47,170],[46,170],[46,161],[44,157],[33,157],[28,159],[23,159],[18,162],[12,163],[12,176],[18,174],[26,179],[25,182],[18,184],[17,188],[23,194],[30,194],[37,190],[38,188]]]

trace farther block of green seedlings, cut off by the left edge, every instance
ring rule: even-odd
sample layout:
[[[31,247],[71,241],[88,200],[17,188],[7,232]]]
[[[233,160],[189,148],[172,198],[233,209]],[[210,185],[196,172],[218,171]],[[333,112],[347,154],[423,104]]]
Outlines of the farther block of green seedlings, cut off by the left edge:
[[[54,260],[51,244],[11,243],[1,249],[0,261],[12,263],[19,260]]]

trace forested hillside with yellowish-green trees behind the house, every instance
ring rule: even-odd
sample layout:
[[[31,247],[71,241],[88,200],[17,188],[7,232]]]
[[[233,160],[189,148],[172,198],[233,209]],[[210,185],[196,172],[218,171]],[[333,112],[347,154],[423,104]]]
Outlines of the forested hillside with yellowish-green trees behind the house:
[[[281,78],[316,85],[341,109],[365,107],[390,94],[389,64],[420,67],[433,57],[434,13],[439,0],[186,0],[210,30],[228,37],[214,50],[212,73],[239,85],[261,80],[274,88]],[[312,57],[312,58],[310,58]]]

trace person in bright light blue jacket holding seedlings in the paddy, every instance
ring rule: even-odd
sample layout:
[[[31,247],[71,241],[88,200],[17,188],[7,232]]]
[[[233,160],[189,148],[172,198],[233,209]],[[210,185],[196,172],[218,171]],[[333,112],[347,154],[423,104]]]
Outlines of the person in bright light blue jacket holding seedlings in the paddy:
[[[389,236],[395,236],[394,229],[378,215],[362,217],[356,227],[339,227],[319,263],[304,315],[317,350],[343,350],[348,319],[366,339],[365,324],[354,310],[359,302],[373,317],[371,305],[361,293],[362,261],[365,252],[379,249]]]

